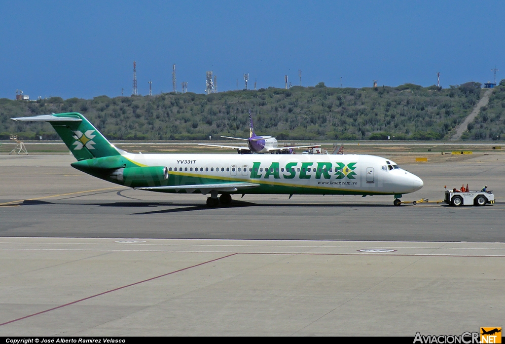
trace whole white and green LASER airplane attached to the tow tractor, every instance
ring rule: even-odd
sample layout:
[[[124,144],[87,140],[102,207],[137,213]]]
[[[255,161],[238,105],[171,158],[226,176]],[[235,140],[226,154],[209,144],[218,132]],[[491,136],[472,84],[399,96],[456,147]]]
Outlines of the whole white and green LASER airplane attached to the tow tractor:
[[[49,122],[77,162],[71,166],[134,189],[210,194],[209,207],[232,194],[394,195],[423,187],[416,175],[369,155],[132,154],[110,143],[79,113],[13,118]],[[218,195],[220,195],[218,200]]]

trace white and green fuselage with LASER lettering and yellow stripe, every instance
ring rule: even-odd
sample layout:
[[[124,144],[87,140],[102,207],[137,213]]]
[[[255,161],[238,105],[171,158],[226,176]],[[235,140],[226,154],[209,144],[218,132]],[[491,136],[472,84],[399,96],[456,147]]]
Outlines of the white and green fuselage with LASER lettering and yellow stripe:
[[[124,154],[137,166],[164,166],[166,180],[148,186],[252,182],[259,187],[230,193],[402,194],[423,186],[416,175],[385,158],[368,155]],[[395,168],[389,166],[396,166]],[[110,176],[103,179],[131,187]],[[156,191],[156,190],[153,190]],[[161,192],[186,192],[181,188]]]

